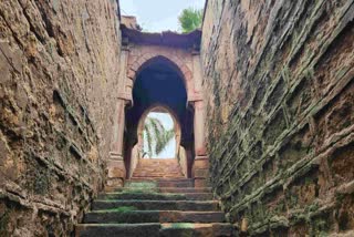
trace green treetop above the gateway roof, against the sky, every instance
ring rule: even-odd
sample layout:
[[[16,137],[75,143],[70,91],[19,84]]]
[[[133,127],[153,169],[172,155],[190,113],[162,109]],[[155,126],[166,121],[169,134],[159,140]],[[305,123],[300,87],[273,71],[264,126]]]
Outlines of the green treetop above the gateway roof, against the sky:
[[[178,17],[179,25],[184,33],[188,33],[201,27],[202,9],[187,8]]]

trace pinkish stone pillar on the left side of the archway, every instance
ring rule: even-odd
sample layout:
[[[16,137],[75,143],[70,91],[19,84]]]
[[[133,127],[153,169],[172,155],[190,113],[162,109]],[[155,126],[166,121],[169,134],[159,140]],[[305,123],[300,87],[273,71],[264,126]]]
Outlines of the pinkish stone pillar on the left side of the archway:
[[[121,73],[118,81],[122,85],[122,91],[118,92],[117,103],[115,106],[115,116],[113,125],[113,137],[111,143],[110,158],[107,161],[107,178],[106,190],[112,190],[115,187],[122,187],[126,177],[126,168],[124,163],[124,130],[125,130],[125,106],[132,102],[132,92],[127,91],[128,80],[126,78],[128,50],[123,48],[121,52]]]

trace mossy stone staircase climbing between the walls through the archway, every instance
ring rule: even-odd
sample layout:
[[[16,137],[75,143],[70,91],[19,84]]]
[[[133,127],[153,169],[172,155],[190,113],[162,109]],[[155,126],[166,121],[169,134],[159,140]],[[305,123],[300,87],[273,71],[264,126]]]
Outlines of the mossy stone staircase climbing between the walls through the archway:
[[[79,237],[235,236],[209,187],[195,188],[176,159],[142,159],[124,187],[98,196]]]

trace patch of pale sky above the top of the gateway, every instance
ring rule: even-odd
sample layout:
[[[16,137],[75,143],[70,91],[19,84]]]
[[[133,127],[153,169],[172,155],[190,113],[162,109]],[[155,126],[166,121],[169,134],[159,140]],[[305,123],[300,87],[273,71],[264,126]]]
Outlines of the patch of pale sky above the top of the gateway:
[[[186,8],[202,9],[205,0],[121,0],[121,13],[135,16],[144,31],[179,31],[178,16]]]

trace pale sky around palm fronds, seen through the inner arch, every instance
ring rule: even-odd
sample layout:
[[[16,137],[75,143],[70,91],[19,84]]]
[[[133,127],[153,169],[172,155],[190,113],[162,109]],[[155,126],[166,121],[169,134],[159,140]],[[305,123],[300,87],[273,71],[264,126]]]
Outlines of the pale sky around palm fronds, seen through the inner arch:
[[[171,130],[174,127],[174,121],[171,116],[167,113],[165,114],[165,113],[150,112],[147,116],[158,118],[166,130]],[[145,138],[144,138],[144,151],[148,151],[147,141]],[[153,156],[154,158],[173,158],[175,154],[176,154],[176,140],[173,138],[171,141],[169,141],[166,148],[160,154],[158,155],[154,154]]]

